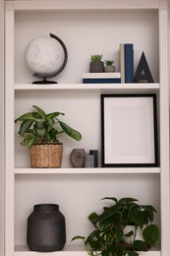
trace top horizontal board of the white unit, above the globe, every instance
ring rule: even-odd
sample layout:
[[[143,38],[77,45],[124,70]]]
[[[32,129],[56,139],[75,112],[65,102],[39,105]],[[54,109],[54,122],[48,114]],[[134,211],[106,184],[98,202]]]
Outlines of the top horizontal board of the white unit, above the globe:
[[[34,0],[11,1],[16,11],[113,11],[113,10],[145,10],[159,8],[159,0]],[[8,2],[7,2],[8,4]]]

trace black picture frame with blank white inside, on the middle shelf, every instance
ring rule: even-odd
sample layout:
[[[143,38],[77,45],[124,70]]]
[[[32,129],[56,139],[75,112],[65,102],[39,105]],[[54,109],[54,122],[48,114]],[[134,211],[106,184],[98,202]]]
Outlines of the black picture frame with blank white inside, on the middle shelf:
[[[101,95],[102,167],[157,166],[155,94]]]

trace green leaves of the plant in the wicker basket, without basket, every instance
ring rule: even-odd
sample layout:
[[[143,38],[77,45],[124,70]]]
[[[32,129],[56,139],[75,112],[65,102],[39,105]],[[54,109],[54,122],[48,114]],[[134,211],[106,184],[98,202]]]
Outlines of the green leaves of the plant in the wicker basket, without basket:
[[[62,122],[58,116],[64,115],[62,112],[52,112],[46,114],[40,107],[33,105],[34,110],[27,112],[15,120],[21,122],[19,134],[24,138],[21,145],[31,147],[36,143],[59,142],[58,137],[62,133],[80,141],[81,133]]]

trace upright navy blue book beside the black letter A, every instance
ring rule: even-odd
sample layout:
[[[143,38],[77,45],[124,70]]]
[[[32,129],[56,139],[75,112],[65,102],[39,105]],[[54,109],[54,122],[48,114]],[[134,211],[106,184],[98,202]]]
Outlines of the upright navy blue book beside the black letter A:
[[[125,43],[125,83],[134,83],[134,44]]]

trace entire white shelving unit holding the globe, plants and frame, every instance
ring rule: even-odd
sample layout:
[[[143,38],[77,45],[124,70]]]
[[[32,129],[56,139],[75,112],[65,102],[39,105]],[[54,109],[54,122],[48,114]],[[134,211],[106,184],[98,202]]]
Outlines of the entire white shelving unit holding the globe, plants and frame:
[[[49,255],[84,256],[74,235],[91,229],[87,216],[103,206],[105,196],[138,198],[157,209],[161,241],[147,256],[169,256],[169,121],[167,71],[167,2],[163,0],[6,1],[5,11],[5,256],[46,255],[28,250],[27,218],[37,203],[59,204],[66,217],[67,244]],[[53,32],[65,41],[69,60],[57,85],[32,85],[25,61],[28,41]],[[144,51],[155,83],[82,84],[89,56],[114,55],[119,70],[119,44],[135,45],[135,68]],[[74,148],[99,150],[100,95],[155,93],[158,98],[159,165],[144,168],[72,168]],[[37,104],[66,113],[65,120],[83,134],[81,142],[64,141],[60,169],[30,168],[28,150],[20,146],[16,117]]]

